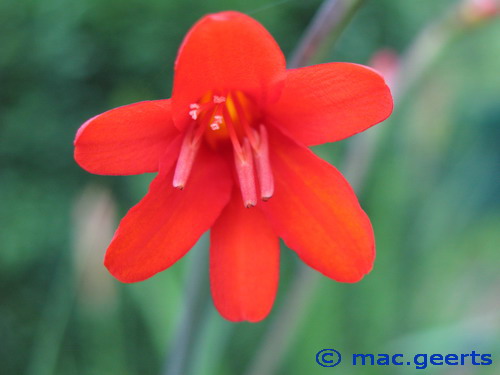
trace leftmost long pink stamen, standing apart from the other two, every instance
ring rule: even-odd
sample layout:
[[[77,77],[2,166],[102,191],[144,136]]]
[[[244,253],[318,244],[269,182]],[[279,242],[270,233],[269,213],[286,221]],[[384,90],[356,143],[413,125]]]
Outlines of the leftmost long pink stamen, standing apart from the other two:
[[[174,188],[182,190],[186,186],[187,179],[191,173],[196,154],[200,149],[201,135],[195,134],[194,125],[186,132],[182,141],[181,151],[175,166],[174,179],[172,185]]]

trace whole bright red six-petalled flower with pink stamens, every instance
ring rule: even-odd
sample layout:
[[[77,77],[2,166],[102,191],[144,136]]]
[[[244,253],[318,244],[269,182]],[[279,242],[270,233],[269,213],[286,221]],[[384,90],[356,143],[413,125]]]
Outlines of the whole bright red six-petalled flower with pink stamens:
[[[360,280],[375,256],[370,221],[337,169],[307,146],[349,137],[391,111],[389,89],[370,68],[287,70],[252,18],[202,18],[179,50],[172,99],[112,109],[76,135],[75,159],[89,172],[158,172],[121,221],[106,267],[123,282],[147,279],[211,228],[212,295],[233,321],[269,313],[278,237],[324,275]]]

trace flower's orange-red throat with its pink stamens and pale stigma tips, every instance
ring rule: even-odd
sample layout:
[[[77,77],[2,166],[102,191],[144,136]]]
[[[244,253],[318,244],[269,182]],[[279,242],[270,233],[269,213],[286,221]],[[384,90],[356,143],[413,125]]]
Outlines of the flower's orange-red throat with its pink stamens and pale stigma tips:
[[[269,162],[266,127],[260,121],[255,103],[241,91],[225,95],[208,92],[187,110],[190,124],[181,146],[173,186],[183,189],[202,140],[217,149],[229,144],[240,185],[243,204],[257,204],[257,178],[262,200],[274,193],[274,179]],[[257,178],[256,178],[257,176]]]

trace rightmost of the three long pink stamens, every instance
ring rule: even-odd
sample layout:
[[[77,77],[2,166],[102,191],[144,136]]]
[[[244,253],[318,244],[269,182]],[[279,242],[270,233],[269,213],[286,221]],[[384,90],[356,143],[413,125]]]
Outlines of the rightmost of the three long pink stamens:
[[[259,127],[260,134],[257,147],[254,147],[254,158],[257,167],[257,175],[260,184],[260,196],[262,200],[267,201],[274,194],[274,177],[269,161],[269,141],[267,138],[267,130],[264,125]],[[255,131],[254,135],[257,135]]]

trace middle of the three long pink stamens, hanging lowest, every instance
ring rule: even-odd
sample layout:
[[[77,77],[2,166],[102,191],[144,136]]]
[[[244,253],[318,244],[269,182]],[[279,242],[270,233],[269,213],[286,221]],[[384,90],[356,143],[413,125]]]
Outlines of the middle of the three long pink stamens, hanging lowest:
[[[252,147],[247,138],[243,141],[242,153],[234,152],[234,164],[240,182],[241,197],[246,208],[257,204],[255,174],[253,169]]]

